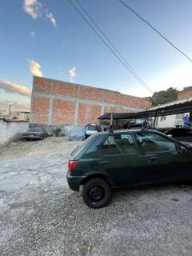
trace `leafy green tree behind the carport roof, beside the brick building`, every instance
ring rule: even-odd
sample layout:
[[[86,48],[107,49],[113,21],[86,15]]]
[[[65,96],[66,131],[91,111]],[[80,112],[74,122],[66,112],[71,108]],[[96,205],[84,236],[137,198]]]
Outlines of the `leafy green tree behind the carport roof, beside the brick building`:
[[[174,87],[170,87],[167,90],[160,90],[155,92],[150,98],[152,106],[158,106],[166,102],[172,102],[178,99],[178,90]]]

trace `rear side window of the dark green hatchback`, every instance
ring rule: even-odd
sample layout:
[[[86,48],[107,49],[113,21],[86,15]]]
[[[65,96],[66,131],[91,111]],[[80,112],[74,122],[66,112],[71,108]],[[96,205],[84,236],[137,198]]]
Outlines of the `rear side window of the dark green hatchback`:
[[[138,154],[138,147],[131,134],[109,135],[101,148],[102,154]]]

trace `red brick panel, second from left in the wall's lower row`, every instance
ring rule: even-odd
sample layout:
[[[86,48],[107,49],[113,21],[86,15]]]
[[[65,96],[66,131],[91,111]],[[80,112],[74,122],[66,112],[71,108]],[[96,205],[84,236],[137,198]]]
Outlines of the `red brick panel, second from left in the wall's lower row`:
[[[51,123],[53,125],[74,123],[75,103],[55,99],[53,102]]]

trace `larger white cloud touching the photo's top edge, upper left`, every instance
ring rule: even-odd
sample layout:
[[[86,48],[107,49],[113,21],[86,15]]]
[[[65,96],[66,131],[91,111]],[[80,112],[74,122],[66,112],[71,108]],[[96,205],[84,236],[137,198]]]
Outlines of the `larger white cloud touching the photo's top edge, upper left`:
[[[26,14],[29,14],[34,19],[41,16],[41,8],[42,4],[38,0],[24,0],[23,2],[23,9]]]

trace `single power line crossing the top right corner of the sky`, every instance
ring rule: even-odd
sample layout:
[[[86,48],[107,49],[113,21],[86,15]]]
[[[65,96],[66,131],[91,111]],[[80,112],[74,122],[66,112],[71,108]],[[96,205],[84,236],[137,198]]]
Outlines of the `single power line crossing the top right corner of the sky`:
[[[146,24],[148,26],[150,26],[150,28],[152,30],[154,30],[158,35],[160,35],[161,38],[166,40],[166,42],[168,42],[170,44],[170,46],[174,47],[175,50],[178,50],[178,52],[180,52],[180,54],[184,55],[190,62],[192,62],[192,59],[187,54],[185,54],[182,50],[180,50],[177,46],[175,46],[173,42],[170,42],[170,40],[168,38],[166,38],[166,36],[164,36],[162,33],[160,33],[150,22],[148,22],[145,18],[142,18],[142,16],[140,14],[138,14],[135,10],[130,8],[130,6],[128,6],[122,0],[118,0],[118,2],[121,2],[123,6],[126,6],[127,9],[132,11],[138,18],[140,18],[142,20],[142,22],[146,22]]]

